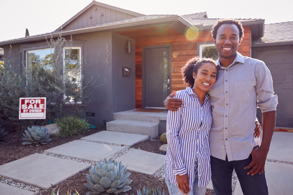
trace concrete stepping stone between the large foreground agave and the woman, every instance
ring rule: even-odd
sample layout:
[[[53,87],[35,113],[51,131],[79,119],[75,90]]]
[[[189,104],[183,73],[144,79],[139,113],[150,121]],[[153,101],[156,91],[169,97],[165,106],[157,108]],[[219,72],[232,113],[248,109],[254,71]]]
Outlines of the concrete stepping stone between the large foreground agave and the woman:
[[[122,161],[122,164],[127,166],[127,170],[153,175],[164,166],[165,155],[133,149],[116,158],[115,161]]]

